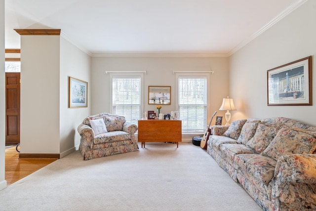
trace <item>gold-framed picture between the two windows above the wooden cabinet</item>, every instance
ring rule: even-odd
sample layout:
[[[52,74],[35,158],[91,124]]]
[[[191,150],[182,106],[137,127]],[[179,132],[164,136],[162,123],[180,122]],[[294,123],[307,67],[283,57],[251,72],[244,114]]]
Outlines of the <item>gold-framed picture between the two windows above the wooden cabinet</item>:
[[[148,104],[170,105],[171,86],[148,86]]]

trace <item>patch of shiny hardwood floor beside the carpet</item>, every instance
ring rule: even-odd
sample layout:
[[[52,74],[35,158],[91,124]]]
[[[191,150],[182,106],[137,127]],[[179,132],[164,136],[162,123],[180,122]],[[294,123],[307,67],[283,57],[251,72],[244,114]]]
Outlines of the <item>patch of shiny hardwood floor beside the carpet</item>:
[[[5,175],[7,185],[56,161],[54,158],[19,158],[15,146],[5,149]]]

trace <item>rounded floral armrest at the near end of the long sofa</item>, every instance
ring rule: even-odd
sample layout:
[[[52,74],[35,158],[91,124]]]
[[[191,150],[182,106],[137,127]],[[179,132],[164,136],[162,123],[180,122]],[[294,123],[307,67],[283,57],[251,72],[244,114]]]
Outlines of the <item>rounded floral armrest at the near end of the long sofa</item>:
[[[279,157],[274,176],[289,183],[316,184],[316,154]]]

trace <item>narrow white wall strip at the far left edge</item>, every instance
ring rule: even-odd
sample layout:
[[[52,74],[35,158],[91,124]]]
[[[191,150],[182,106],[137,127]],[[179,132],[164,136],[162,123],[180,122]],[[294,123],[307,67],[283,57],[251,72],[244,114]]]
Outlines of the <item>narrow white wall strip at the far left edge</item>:
[[[4,0],[0,0],[0,190],[6,187],[5,165],[5,73],[4,73]]]

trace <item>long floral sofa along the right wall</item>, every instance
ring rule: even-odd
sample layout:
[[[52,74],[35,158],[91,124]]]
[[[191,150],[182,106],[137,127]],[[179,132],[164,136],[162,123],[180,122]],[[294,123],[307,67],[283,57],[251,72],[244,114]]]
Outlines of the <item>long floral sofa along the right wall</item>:
[[[211,132],[207,153],[263,210],[316,210],[316,127],[276,117]]]

